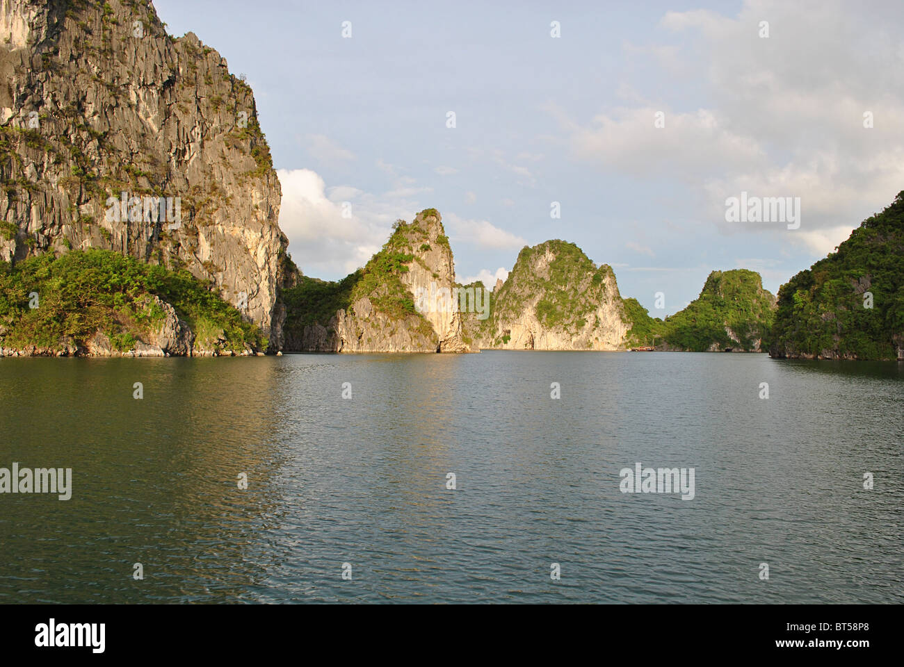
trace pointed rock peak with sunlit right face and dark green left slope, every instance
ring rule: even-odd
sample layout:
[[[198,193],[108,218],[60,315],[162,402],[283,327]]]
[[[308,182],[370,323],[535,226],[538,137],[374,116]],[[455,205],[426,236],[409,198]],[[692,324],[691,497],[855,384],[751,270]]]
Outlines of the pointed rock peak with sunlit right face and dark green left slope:
[[[398,221],[363,269],[338,283],[287,290],[286,349],[295,352],[466,352],[455,263],[435,209]]]

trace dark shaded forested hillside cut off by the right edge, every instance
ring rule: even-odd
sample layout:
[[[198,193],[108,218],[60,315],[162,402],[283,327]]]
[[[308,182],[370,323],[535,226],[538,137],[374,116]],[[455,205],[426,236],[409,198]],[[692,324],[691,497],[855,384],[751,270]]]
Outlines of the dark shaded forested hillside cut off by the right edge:
[[[779,289],[769,354],[904,359],[904,192]]]

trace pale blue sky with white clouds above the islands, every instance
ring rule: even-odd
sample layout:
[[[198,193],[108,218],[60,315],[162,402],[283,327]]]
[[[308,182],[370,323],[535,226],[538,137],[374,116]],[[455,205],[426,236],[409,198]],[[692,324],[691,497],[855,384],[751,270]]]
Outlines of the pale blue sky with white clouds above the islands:
[[[460,282],[562,239],[671,315],[712,270],[777,293],[904,190],[898,0],[489,5],[154,2],[247,77],[307,276],[436,208]]]

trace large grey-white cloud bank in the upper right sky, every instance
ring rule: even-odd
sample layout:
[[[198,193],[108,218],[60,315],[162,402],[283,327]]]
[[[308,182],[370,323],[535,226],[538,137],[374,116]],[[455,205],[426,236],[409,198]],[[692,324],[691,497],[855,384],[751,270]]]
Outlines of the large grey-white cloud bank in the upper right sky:
[[[758,34],[762,20],[769,22],[767,39]],[[627,44],[626,51],[654,66],[674,65],[667,70],[675,87],[694,90],[705,108],[653,102],[623,85],[619,97],[630,106],[608,108],[589,123],[560,108],[550,112],[580,159],[685,183],[696,207],[689,217],[724,232],[796,234],[788,236],[792,243],[822,254],[904,183],[902,23],[904,5],[863,12],[831,0],[748,0],[734,16],[669,12],[660,25],[682,39],[680,48]],[[663,128],[654,127],[657,111],[664,112]],[[872,128],[863,127],[867,111]],[[724,202],[743,191],[800,197],[801,229],[729,225]]]

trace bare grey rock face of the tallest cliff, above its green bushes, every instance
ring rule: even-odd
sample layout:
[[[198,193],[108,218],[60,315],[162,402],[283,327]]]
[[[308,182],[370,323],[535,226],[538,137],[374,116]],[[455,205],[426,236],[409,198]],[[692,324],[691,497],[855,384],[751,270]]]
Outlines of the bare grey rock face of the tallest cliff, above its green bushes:
[[[249,86],[153,5],[0,0],[0,260],[113,249],[209,280],[281,346],[291,270]]]

